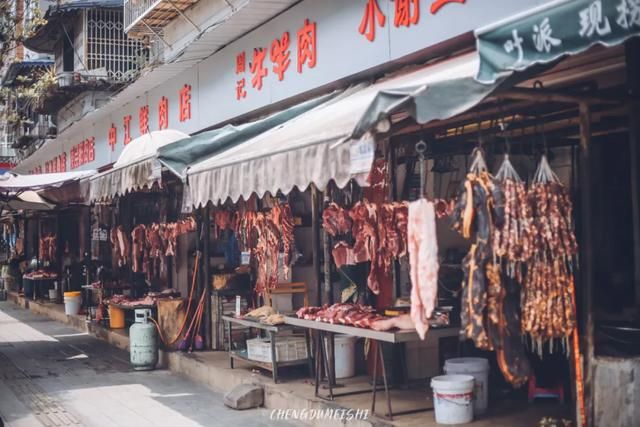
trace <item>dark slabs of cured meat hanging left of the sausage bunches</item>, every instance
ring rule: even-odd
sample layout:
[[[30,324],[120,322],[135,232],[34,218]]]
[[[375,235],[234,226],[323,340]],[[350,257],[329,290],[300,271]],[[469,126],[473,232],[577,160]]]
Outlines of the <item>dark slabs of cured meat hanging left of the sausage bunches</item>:
[[[474,157],[452,214],[452,227],[474,238],[463,260],[461,334],[482,350],[495,350],[505,379],[520,386],[531,366],[520,339],[518,290],[503,280],[493,252],[499,232],[510,227],[505,224],[505,196],[487,172],[482,153],[478,150]]]

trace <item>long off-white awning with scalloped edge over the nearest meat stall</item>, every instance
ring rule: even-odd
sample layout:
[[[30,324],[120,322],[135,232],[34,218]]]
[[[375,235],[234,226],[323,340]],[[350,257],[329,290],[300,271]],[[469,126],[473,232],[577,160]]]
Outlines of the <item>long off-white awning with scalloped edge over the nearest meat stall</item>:
[[[322,190],[331,180],[342,187],[362,178],[373,162],[371,134],[392,114],[406,111],[418,123],[446,119],[475,106],[506,77],[481,84],[475,80],[478,66],[473,52],[351,88],[192,166],[187,171],[191,202],[201,206],[254,192],[288,193],[311,183]]]

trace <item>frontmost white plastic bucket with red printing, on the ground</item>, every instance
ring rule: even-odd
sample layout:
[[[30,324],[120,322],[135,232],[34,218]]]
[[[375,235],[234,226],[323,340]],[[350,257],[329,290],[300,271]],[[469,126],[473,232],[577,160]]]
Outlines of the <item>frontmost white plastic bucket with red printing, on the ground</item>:
[[[471,375],[441,375],[431,379],[436,423],[473,421],[473,383]]]

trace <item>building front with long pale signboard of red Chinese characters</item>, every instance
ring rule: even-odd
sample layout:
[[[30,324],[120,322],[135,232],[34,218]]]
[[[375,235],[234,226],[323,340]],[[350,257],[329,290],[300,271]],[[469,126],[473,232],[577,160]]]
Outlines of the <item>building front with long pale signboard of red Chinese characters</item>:
[[[386,0],[202,0],[180,11],[147,3],[145,9],[145,2],[136,2],[134,10],[125,2],[123,21],[127,37],[148,48],[146,66],[117,93],[93,91],[90,100],[76,97],[60,108],[57,138],[20,162],[17,172],[107,167],[148,131],[194,134],[260,117],[406,63],[472,48],[475,28],[545,2],[406,2],[407,11]],[[172,11],[162,15],[154,8]],[[78,28],[90,30],[86,24]],[[90,37],[84,43],[80,38],[75,44],[85,47],[75,56],[83,57]],[[42,48],[37,41],[27,45]],[[63,45],[64,39],[50,51],[56,69],[66,73]]]

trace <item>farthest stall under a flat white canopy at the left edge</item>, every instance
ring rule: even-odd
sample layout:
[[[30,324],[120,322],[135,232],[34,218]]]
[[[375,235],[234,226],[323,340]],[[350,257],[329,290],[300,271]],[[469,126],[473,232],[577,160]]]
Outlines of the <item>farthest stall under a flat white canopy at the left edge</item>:
[[[69,255],[75,253],[78,265],[83,260],[84,240],[79,236],[84,235],[86,211],[81,204],[86,200],[86,179],[94,173],[5,173],[0,177],[3,209],[12,212],[13,225],[6,224],[8,249],[16,262],[23,263],[25,274],[19,282],[25,296],[62,302],[62,293],[71,290]]]

